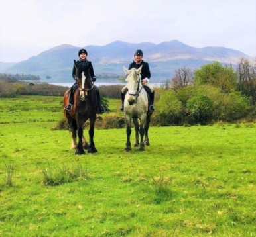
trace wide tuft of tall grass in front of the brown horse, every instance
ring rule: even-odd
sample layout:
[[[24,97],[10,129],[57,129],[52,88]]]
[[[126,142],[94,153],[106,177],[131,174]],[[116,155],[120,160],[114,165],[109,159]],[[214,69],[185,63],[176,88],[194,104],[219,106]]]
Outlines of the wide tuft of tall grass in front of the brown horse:
[[[48,169],[42,169],[42,175],[42,183],[49,186],[88,179],[87,169],[83,169],[78,162],[74,163],[72,167],[66,165],[62,167],[52,167],[48,164]]]

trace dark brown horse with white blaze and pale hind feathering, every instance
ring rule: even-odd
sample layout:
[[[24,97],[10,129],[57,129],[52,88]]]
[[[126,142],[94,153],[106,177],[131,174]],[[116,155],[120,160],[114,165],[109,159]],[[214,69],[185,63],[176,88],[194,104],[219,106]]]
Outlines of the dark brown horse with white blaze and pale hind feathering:
[[[72,134],[71,148],[76,149],[75,154],[85,154],[84,148],[88,149],[89,153],[97,152],[94,145],[94,123],[97,113],[97,95],[94,89],[94,83],[91,81],[90,73],[86,63],[79,64],[74,60],[76,68],[76,77],[78,89],[74,92],[74,105],[71,111],[64,110],[64,115],[68,120],[70,132]],[[70,90],[64,93],[64,106],[68,103],[68,95]],[[86,142],[83,135],[83,126],[86,120],[90,120],[90,144]],[[78,144],[76,142],[76,134],[78,135]]]

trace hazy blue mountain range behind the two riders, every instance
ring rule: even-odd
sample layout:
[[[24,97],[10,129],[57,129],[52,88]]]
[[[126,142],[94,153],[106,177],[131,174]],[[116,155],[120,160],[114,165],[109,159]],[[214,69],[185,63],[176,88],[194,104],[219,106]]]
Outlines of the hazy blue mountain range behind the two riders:
[[[143,59],[149,62],[151,82],[154,83],[170,79],[175,69],[182,66],[195,69],[214,61],[235,65],[240,58],[250,58],[237,50],[224,47],[195,48],[178,40],[160,44],[115,41],[105,46],[89,45],[82,48],[88,51],[88,60],[92,61],[98,79],[115,81],[119,75],[124,75],[123,66],[129,66],[137,48],[143,50]],[[39,75],[42,80],[51,77],[49,82],[70,82],[74,59],[78,60],[78,50],[80,47],[63,44],[16,64],[1,63],[0,72]]]

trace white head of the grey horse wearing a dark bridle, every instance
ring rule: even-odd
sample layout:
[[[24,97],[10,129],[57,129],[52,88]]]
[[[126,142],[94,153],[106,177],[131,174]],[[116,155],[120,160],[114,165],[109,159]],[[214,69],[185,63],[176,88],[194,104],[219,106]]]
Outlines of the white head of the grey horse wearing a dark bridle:
[[[130,105],[135,103],[139,95],[139,89],[141,87],[141,68],[142,66],[140,66],[138,69],[131,68],[130,70],[127,70],[127,68],[123,67],[123,70],[127,74],[125,81],[127,83],[129,94],[128,102]]]

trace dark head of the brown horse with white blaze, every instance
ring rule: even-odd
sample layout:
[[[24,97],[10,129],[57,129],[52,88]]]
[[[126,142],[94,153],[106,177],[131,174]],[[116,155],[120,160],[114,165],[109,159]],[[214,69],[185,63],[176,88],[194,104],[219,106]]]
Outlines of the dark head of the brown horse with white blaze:
[[[78,78],[80,99],[84,101],[88,97],[88,91],[90,91],[94,85],[92,84],[89,68],[86,62],[80,62],[78,64],[76,60],[74,60],[74,66],[76,68],[76,77]]]

